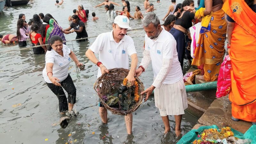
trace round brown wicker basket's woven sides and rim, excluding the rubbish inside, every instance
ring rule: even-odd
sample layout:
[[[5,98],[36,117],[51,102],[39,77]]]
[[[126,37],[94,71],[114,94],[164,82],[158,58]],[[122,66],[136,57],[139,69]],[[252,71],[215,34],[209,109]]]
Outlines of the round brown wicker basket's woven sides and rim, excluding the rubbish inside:
[[[136,102],[130,110],[124,111],[119,110],[118,108],[112,108],[109,107],[105,101],[102,99],[102,96],[108,95],[111,93],[115,93],[118,88],[123,84],[124,78],[128,75],[129,70],[124,68],[113,68],[108,69],[109,73],[104,73],[102,76],[100,76],[95,85],[94,90],[98,93],[98,96],[100,98],[100,101],[104,105],[105,108],[110,110],[113,114],[118,115],[127,115],[129,113],[134,112],[140,107],[140,104],[142,103],[143,95],[140,95],[139,101]],[[135,77],[136,81],[139,85],[139,93],[144,91],[143,83],[140,81],[138,77]]]

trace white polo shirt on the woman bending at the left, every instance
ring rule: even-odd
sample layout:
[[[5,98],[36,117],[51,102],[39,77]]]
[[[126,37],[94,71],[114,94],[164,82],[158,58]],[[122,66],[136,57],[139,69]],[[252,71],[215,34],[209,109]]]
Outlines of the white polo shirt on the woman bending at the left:
[[[63,44],[62,51],[63,51],[63,57],[53,49],[51,51],[46,52],[45,67],[43,70],[43,77],[46,83],[52,83],[49,77],[47,76],[47,72],[46,72],[47,63],[53,63],[53,68],[52,68],[53,76],[57,77],[60,80],[60,82],[62,82],[68,77],[68,67],[71,60],[69,57],[70,49],[67,47],[67,45]]]

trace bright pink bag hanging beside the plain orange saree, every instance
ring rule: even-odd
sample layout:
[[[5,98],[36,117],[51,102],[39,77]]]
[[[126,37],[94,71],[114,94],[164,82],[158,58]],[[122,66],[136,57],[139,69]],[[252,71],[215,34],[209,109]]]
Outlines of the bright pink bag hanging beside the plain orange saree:
[[[229,55],[220,66],[220,72],[217,81],[216,97],[220,98],[228,95],[231,90],[231,61]]]

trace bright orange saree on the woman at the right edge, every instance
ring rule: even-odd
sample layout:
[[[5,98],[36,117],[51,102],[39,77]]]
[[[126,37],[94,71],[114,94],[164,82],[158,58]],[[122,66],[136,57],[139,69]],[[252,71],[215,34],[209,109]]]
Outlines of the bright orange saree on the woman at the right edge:
[[[229,52],[232,116],[256,122],[256,13],[244,0],[226,0],[222,10],[236,22]]]

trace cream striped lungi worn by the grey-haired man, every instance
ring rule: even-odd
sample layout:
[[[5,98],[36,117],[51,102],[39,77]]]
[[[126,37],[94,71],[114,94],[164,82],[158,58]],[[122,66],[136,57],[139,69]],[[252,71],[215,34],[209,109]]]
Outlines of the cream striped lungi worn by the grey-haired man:
[[[166,109],[167,115],[182,115],[188,108],[187,93],[183,78],[174,84],[162,84],[155,88],[156,108]]]

